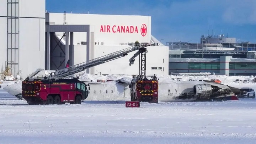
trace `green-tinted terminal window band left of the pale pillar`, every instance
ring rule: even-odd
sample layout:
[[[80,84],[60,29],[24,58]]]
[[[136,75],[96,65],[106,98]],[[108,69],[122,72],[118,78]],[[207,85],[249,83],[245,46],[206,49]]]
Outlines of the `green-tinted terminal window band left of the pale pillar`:
[[[189,62],[188,69],[193,70],[218,70],[219,62]]]

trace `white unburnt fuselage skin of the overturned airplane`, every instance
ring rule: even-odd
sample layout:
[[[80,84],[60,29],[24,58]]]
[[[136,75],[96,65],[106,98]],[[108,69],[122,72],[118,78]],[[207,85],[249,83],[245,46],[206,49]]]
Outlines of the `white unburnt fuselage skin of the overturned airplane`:
[[[130,89],[128,83],[116,83],[111,82],[94,82],[86,83],[90,84],[89,96],[86,100],[130,100]],[[182,93],[192,93],[193,87],[196,84],[206,84],[206,82],[199,81],[175,81],[172,79],[163,79],[159,81],[158,98],[162,102],[172,102],[172,101],[193,101],[196,98],[191,99],[175,99]],[[220,88],[228,88],[225,85],[208,83],[211,85],[216,85]],[[15,83],[4,87],[4,90],[17,98],[20,98],[22,90],[22,83]],[[23,99],[24,100],[24,99]]]

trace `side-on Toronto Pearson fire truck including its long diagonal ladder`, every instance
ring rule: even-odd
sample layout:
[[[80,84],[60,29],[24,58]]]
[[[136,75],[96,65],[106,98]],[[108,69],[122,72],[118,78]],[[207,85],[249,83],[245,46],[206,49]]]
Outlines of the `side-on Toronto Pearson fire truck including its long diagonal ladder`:
[[[134,46],[129,48],[66,67],[62,70],[56,70],[55,72],[49,73],[48,76],[44,78],[32,78],[40,71],[43,71],[43,69],[38,69],[22,81],[22,97],[27,100],[27,103],[30,105],[81,104],[89,94],[88,90],[90,90],[90,85],[80,81],[78,77],[70,78],[68,76],[85,71],[87,68],[127,56],[130,52],[136,50],[142,51],[146,46],[149,45],[147,43],[135,43]]]

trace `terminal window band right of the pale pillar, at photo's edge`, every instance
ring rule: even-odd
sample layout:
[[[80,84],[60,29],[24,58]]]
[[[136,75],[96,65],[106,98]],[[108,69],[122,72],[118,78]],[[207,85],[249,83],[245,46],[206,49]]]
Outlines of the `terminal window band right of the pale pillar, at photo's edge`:
[[[256,62],[230,62],[229,69],[233,70],[255,70]]]

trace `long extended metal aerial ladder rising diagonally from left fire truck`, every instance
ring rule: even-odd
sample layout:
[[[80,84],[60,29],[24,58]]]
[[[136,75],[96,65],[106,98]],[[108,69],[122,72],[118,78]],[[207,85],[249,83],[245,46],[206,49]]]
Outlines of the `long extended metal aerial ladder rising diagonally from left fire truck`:
[[[50,73],[49,78],[66,77],[66,76],[69,76],[69,75],[72,75],[75,73],[79,73],[79,72],[86,70],[87,68],[94,67],[94,66],[100,65],[102,63],[112,61],[112,60],[116,60],[123,56],[127,56],[129,52],[133,52],[135,50],[140,50],[141,48],[145,48],[147,46],[150,46],[150,44],[149,43],[141,43],[138,45],[134,45],[129,48],[119,50],[119,51],[113,52],[111,54],[98,57],[96,59],[92,59],[90,61],[86,61],[86,62],[77,64],[77,65],[74,65],[74,66],[71,66],[68,68],[64,68],[62,70],[58,70],[58,71],[54,72],[54,74]]]

